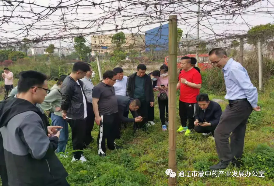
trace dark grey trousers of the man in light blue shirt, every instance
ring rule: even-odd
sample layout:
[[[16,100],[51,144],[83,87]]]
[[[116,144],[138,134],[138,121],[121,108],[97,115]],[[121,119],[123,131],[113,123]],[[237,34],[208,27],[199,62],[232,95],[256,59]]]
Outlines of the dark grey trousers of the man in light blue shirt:
[[[241,158],[244,150],[246,123],[251,112],[252,107],[248,101],[229,104],[223,111],[214,131],[217,154],[222,162],[229,163],[235,158]]]

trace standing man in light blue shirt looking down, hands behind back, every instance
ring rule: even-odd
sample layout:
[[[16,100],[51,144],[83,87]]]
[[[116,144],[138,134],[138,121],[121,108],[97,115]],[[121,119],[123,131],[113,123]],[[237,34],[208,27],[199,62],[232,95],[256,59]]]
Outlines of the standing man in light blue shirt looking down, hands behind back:
[[[209,52],[209,60],[223,71],[227,89],[225,99],[229,102],[214,131],[220,162],[209,168],[212,170],[225,169],[231,161],[239,167],[248,117],[252,110],[261,110],[257,105],[257,88],[251,83],[246,69],[237,61],[229,58],[223,49],[212,49]]]

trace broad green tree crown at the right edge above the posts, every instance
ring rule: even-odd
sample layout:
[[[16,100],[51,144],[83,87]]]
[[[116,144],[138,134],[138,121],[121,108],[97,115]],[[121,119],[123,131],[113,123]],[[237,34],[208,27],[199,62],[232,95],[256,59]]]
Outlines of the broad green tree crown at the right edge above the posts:
[[[252,27],[247,34],[248,44],[257,45],[260,40],[262,43],[274,38],[274,24],[257,25]]]

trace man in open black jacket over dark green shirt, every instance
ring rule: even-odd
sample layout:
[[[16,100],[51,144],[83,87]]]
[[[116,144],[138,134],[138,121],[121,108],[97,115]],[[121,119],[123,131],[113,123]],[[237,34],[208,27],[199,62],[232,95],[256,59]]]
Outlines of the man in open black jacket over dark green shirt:
[[[136,129],[146,130],[146,123],[148,122],[149,107],[154,106],[154,94],[151,78],[146,75],[146,65],[139,64],[137,72],[128,76],[126,95],[130,98],[139,99],[141,107],[137,111],[138,115],[142,116],[143,120],[134,123],[134,131]]]

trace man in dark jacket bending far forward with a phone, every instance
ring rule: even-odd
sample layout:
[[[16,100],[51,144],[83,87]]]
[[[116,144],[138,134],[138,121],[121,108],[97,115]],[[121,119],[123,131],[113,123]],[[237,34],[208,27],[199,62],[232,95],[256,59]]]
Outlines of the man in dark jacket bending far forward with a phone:
[[[142,121],[142,117],[138,116],[136,112],[141,106],[141,102],[139,101],[139,99],[133,99],[133,98],[129,98],[127,96],[121,96],[121,95],[116,95],[116,98],[118,103],[118,113],[119,113],[120,123],[121,122],[135,123],[135,122]],[[131,111],[131,114],[134,118],[128,118],[123,115],[124,112],[129,112],[129,111]],[[121,135],[120,128],[118,131],[118,136]]]

